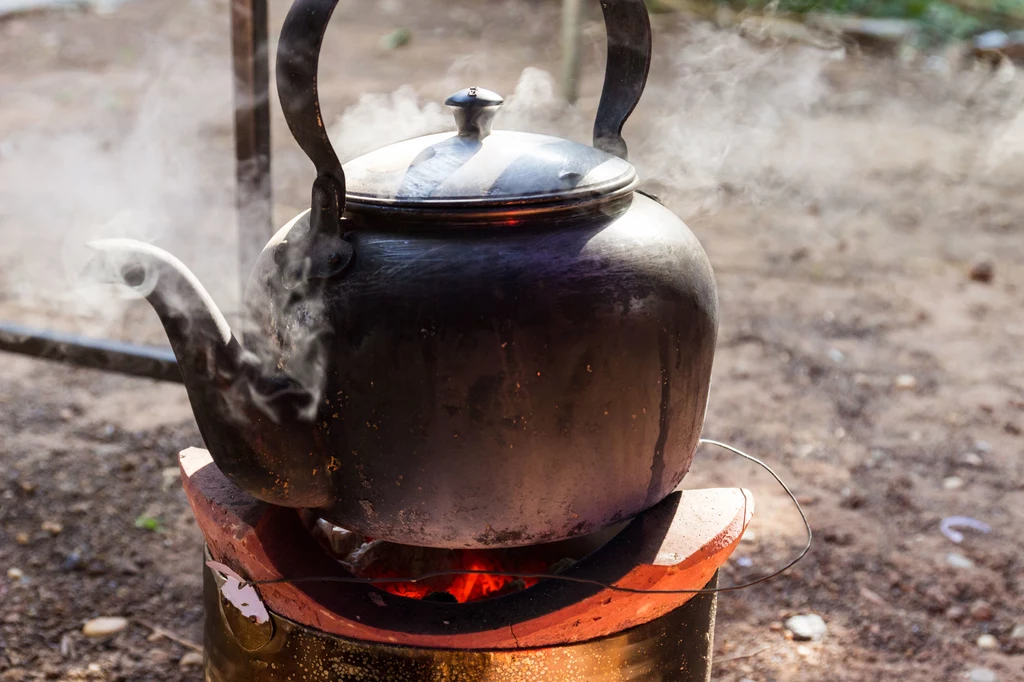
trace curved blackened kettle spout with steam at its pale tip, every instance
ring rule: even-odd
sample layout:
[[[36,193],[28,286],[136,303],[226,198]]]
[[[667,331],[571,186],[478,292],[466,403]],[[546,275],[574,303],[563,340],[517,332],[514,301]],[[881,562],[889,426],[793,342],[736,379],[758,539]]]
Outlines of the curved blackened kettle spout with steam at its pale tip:
[[[88,246],[96,253],[83,276],[132,289],[160,317],[200,433],[220,470],[264,502],[327,505],[329,477],[310,477],[308,462],[283,461],[280,446],[286,439],[309,437],[309,425],[302,422],[316,396],[276,370],[275,358],[246,350],[210,294],[171,254],[127,239]]]

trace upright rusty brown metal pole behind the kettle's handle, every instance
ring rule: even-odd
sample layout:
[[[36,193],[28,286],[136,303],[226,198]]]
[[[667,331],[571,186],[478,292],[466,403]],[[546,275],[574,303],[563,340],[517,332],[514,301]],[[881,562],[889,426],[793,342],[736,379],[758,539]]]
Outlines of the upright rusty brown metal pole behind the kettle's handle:
[[[231,0],[239,276],[273,236],[270,195],[270,70],[266,0]]]

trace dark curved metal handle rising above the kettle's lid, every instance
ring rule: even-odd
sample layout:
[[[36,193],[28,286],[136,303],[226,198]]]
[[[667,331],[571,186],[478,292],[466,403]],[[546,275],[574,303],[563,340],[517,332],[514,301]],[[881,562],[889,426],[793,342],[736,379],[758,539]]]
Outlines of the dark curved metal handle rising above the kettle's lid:
[[[295,0],[278,43],[278,96],[292,136],[324,181],[333,180],[344,209],[345,173],[328,138],[316,71],[324,34],[338,0]],[[604,88],[594,123],[594,146],[626,159],[623,126],[636,109],[650,70],[650,16],[644,0],[601,0],[608,36]]]

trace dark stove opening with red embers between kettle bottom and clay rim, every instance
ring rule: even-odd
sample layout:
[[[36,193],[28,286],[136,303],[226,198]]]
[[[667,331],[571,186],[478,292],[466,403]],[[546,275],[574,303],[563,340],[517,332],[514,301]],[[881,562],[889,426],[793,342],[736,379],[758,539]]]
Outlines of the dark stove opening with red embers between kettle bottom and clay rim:
[[[321,545],[359,578],[406,578],[442,570],[496,570],[513,573],[558,573],[611,540],[626,523],[590,536],[557,543],[504,549],[443,549],[374,540],[305,515]],[[539,583],[534,578],[462,573],[416,583],[380,583],[376,587],[399,597],[466,603],[502,597]]]

